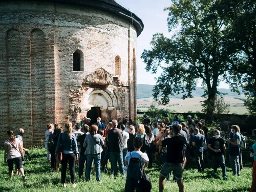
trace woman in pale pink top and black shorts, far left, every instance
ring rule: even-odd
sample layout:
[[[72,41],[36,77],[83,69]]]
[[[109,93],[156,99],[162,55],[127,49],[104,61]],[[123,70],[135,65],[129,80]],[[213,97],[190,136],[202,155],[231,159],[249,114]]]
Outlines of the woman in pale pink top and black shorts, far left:
[[[16,139],[13,135],[13,131],[8,130],[7,131],[8,139],[5,141],[5,155],[4,155],[4,162],[8,163],[8,169],[9,169],[9,176],[12,178],[13,176],[13,163],[15,163],[17,169],[22,174],[22,178],[24,181],[27,180],[27,178],[24,175],[24,169],[22,167],[22,154],[23,154],[23,148],[22,145],[20,145],[19,139]]]

